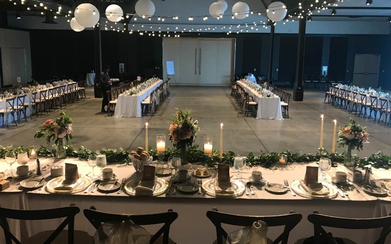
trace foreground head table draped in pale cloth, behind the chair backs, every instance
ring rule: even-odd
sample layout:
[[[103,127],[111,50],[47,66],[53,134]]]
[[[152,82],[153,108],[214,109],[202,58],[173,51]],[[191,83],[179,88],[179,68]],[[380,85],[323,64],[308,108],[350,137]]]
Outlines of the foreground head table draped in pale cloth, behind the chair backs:
[[[88,174],[91,172],[91,167],[86,161],[78,159],[55,160],[52,158],[41,159],[42,168],[49,168],[51,165],[63,165],[66,163],[76,163],[79,168],[79,174]],[[35,161],[30,160],[28,165],[30,170],[36,166]],[[263,177],[271,183],[283,183],[287,180],[289,183],[296,179],[303,179],[305,166],[317,166],[316,163],[309,164],[289,164],[275,169],[265,169],[261,167],[247,167],[243,170],[243,178],[247,180],[251,176],[252,170],[260,170]],[[14,172],[17,163],[13,164]],[[189,168],[193,165],[183,165],[181,167]],[[128,164],[114,164],[108,165],[113,169],[117,179],[121,181],[123,177],[130,177],[135,171],[132,165]],[[7,169],[7,170],[6,170]],[[8,173],[8,165],[4,160],[0,160],[0,171]],[[43,171],[45,180],[50,180],[50,170]],[[95,167],[96,173],[98,168]],[[332,168],[328,172],[328,180],[336,171],[345,171],[348,174],[348,179],[351,180],[352,174],[350,169],[339,165],[337,168]],[[231,176],[236,174],[231,168]],[[92,174],[90,173],[89,176]],[[213,175],[214,176],[214,175]],[[373,169],[371,179],[386,179],[390,178],[390,171]],[[166,178],[168,179],[168,178]],[[205,181],[205,180],[204,180]],[[359,185],[356,185],[356,190],[348,191],[346,198],[341,198],[338,195],[334,199],[307,199],[299,195],[292,196],[288,191],[283,195],[275,195],[265,191],[264,186],[254,185],[255,195],[246,196],[245,194],[236,198],[215,198],[206,195],[204,192],[198,195],[183,194],[176,191],[173,195],[173,188],[171,194],[160,195],[157,197],[149,196],[130,196],[124,191],[121,194],[101,193],[75,193],[72,195],[65,194],[51,194],[43,188],[43,190],[25,191],[19,184],[19,181],[12,181],[11,186],[0,192],[0,204],[6,208],[18,209],[47,209],[69,206],[75,203],[81,210],[89,208],[91,205],[95,206],[98,211],[112,212],[112,213],[127,213],[127,214],[147,214],[166,212],[172,208],[178,213],[178,219],[172,224],[170,229],[170,238],[178,244],[199,244],[212,243],[216,239],[216,229],[213,224],[207,219],[206,211],[217,207],[221,212],[228,212],[233,214],[243,215],[279,215],[287,214],[291,210],[303,215],[302,221],[292,230],[289,236],[289,243],[313,235],[313,226],[310,224],[306,216],[314,210],[320,211],[322,214],[333,215],[348,218],[373,218],[380,216],[387,216],[391,212],[391,197],[378,198],[370,196],[363,192]],[[10,221],[11,231],[16,233],[17,237],[25,238],[26,236],[35,234],[39,231],[54,229],[56,225],[60,224],[59,220],[45,220],[34,222],[19,222]],[[147,229],[152,233],[158,229],[159,226],[147,226]],[[233,231],[238,229],[237,226],[229,226],[226,229]],[[95,229],[84,217],[83,213],[76,215],[75,229],[84,230],[93,235]],[[357,243],[371,243],[375,240],[380,230],[369,231],[344,231],[338,229],[331,230],[334,236],[341,236],[351,238]],[[269,228],[267,235],[270,238],[277,237],[282,232],[280,227]],[[3,231],[0,232],[0,243],[4,243]],[[386,242],[387,243],[387,242]]]

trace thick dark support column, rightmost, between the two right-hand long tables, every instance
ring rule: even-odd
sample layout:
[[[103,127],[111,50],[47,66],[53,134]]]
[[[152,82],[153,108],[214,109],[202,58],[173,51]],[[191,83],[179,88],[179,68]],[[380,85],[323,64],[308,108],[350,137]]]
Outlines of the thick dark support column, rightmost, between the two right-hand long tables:
[[[306,18],[299,20],[299,40],[297,44],[297,66],[296,66],[296,79],[293,85],[293,100],[303,101],[304,89],[303,89],[303,70],[304,70],[304,48],[305,48],[305,25],[307,23]]]

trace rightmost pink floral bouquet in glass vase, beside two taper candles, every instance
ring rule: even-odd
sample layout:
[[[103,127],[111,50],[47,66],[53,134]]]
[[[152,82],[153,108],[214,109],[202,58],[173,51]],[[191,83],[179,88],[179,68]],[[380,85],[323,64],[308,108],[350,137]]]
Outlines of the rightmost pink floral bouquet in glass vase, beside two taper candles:
[[[339,127],[338,132],[338,144],[339,147],[348,145],[348,150],[345,155],[345,165],[351,165],[352,157],[351,151],[353,149],[363,149],[364,143],[369,143],[369,134],[366,131],[367,127],[356,124],[356,121],[350,118],[350,121],[347,125]]]

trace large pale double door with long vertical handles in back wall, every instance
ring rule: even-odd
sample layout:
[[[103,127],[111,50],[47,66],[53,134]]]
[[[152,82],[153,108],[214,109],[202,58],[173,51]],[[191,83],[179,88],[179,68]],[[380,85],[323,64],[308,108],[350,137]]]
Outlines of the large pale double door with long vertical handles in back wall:
[[[233,39],[165,38],[163,63],[174,61],[178,85],[229,85],[234,44]]]

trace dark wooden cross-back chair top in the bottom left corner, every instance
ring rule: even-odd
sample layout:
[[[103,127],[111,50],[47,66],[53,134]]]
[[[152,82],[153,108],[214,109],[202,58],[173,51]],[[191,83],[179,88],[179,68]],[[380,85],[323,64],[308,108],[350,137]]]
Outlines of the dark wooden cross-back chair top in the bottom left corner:
[[[80,212],[77,206],[60,207],[44,210],[20,210],[0,207],[0,226],[4,231],[5,243],[22,244],[10,231],[7,219],[14,220],[51,220],[65,218],[65,220],[53,231],[44,244],[50,244],[68,226],[68,244],[74,243],[75,215]]]

